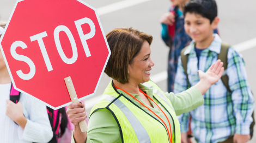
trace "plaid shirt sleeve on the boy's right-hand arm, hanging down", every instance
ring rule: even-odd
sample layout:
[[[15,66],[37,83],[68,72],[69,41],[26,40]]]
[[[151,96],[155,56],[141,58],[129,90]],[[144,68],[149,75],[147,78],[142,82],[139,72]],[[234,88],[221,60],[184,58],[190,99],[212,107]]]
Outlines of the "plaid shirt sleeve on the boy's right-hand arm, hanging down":
[[[254,98],[247,80],[245,63],[233,48],[228,51],[227,75],[236,119],[235,132],[249,134],[249,126],[253,121]]]

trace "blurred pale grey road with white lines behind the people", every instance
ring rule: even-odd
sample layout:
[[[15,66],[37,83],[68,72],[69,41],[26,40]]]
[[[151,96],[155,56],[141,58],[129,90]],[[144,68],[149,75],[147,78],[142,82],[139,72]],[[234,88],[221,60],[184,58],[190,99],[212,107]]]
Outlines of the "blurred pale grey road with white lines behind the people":
[[[161,40],[159,19],[168,11],[169,0],[83,0],[97,9],[102,27],[107,34],[114,28],[133,27],[153,35],[151,58],[155,66],[151,70],[151,80],[167,91],[167,59],[169,48]],[[7,22],[14,8],[15,0],[0,0],[0,24]],[[256,1],[216,0],[220,24],[218,30],[223,41],[233,45],[243,55],[247,76],[253,93],[256,93]],[[100,95],[111,79],[103,74],[94,96],[86,99],[87,114],[100,100]],[[256,127],[256,126],[255,126]],[[256,142],[256,128],[250,143]]]

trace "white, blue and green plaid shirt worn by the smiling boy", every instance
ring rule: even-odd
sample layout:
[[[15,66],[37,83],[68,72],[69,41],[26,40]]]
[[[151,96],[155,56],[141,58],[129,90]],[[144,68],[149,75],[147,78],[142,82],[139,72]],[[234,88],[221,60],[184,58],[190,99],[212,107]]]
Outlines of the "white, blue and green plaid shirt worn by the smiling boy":
[[[222,40],[217,34],[214,36],[210,47],[200,54],[199,69],[203,72],[206,72],[211,64],[217,61],[217,54],[221,50]],[[200,80],[197,73],[198,59],[194,51],[194,41],[190,43],[184,54],[189,54],[188,81],[191,86],[194,86]],[[249,134],[249,126],[253,121],[254,98],[247,81],[242,56],[231,47],[228,50],[228,67],[224,74],[229,77],[231,93],[221,80],[212,85],[203,95],[204,105],[178,116],[181,133],[187,132],[188,118],[191,115],[191,129],[198,142],[220,142],[235,133]],[[179,57],[174,93],[180,93],[188,88],[187,77],[182,67],[181,57]]]

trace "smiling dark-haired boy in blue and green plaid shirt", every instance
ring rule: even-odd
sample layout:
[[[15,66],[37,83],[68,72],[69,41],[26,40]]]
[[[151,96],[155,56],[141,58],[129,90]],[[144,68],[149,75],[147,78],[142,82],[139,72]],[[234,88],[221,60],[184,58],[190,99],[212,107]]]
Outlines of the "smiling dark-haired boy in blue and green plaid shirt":
[[[199,81],[197,70],[208,70],[217,61],[223,47],[220,36],[213,34],[220,21],[215,0],[188,2],[184,8],[184,16],[185,31],[193,41],[181,51],[181,55],[187,56],[187,64],[185,71],[182,65],[184,58],[181,59],[180,56],[174,85],[175,94],[195,85]],[[227,84],[224,84],[224,80],[219,80],[204,94],[204,105],[178,117],[181,124],[181,142],[187,142],[187,122],[190,114],[191,128],[197,142],[243,143],[251,138],[249,127],[253,121],[254,99],[248,85],[245,65],[241,55],[231,47],[227,48],[225,57],[227,70],[224,73],[228,76]]]

